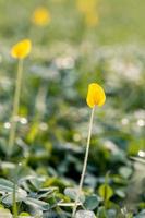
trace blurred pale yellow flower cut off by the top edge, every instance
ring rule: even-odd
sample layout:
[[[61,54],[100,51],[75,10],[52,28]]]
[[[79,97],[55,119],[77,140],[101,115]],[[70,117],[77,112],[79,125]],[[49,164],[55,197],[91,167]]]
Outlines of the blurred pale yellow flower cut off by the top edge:
[[[76,0],[77,9],[84,13],[96,10],[97,4],[98,0]]]

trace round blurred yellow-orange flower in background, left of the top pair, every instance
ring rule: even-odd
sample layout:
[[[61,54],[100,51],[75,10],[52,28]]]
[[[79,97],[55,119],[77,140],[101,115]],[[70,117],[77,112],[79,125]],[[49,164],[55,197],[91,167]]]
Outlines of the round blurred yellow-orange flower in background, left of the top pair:
[[[34,11],[32,21],[38,26],[45,26],[50,23],[51,15],[46,8],[39,7]]]

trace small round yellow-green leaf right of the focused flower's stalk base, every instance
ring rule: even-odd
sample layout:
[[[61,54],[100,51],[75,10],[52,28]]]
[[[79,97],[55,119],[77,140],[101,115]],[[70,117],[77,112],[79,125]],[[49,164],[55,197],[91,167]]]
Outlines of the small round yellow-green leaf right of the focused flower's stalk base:
[[[113,190],[108,184],[102,184],[99,186],[98,193],[104,201],[109,201],[113,195]]]

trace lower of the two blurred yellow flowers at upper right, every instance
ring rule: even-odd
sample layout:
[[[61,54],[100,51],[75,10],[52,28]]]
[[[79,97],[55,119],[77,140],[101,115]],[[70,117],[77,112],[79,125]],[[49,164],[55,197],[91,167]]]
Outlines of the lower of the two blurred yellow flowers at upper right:
[[[85,22],[87,26],[94,27],[97,26],[98,22],[99,22],[99,17],[98,15],[95,13],[95,11],[93,12],[88,12],[85,15]]]

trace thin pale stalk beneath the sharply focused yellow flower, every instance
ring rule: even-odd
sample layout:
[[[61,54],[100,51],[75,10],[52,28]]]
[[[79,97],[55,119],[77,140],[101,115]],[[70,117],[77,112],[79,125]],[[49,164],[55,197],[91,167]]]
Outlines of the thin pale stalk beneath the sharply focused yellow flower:
[[[76,208],[77,208],[77,203],[81,196],[83,183],[84,183],[84,178],[85,178],[85,172],[86,172],[86,167],[87,167],[87,160],[88,160],[88,154],[89,154],[89,147],[90,147],[90,137],[92,137],[92,129],[93,129],[93,119],[94,119],[94,111],[95,107],[92,109],[92,114],[90,114],[90,121],[89,121],[89,129],[88,129],[88,137],[87,137],[87,145],[86,145],[86,152],[85,152],[85,158],[84,158],[84,165],[83,165],[83,170],[81,174],[81,180],[80,180],[80,185],[78,185],[78,192],[75,198],[74,207],[73,207],[73,213],[72,213],[72,218],[74,218]]]

